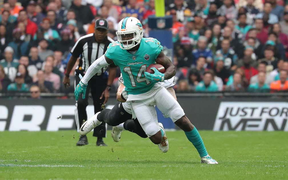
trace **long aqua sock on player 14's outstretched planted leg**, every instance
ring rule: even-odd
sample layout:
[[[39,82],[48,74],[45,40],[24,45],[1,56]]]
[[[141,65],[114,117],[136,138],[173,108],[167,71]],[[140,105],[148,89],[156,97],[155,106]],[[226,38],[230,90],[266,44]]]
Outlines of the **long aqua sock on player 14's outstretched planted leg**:
[[[197,131],[196,127],[194,127],[194,129],[192,131],[185,132],[185,135],[186,135],[187,139],[190,142],[192,142],[192,144],[195,146],[200,157],[204,157],[204,156],[208,155],[208,152],[206,151],[206,148],[204,146],[202,138],[201,138],[199,132]]]

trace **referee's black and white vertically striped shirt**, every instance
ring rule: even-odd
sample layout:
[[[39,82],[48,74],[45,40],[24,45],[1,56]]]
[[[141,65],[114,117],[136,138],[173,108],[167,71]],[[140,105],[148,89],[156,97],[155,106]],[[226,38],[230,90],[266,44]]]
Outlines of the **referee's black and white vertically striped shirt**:
[[[107,50],[110,43],[113,43],[113,39],[107,36],[102,43],[97,43],[94,33],[85,35],[78,39],[74,47],[71,49],[71,54],[74,57],[79,57],[79,66],[76,68],[76,72],[85,74],[88,67],[98,58],[100,58]],[[100,76],[107,70],[107,66],[99,70],[96,75]]]

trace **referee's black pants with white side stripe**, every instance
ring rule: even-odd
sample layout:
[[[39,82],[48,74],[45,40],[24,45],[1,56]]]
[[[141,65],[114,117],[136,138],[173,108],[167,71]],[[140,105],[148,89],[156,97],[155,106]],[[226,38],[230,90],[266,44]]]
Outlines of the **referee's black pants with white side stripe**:
[[[80,81],[79,74],[76,73],[75,76],[75,87],[78,85]],[[82,95],[79,96],[77,101],[77,112],[75,111],[75,121],[76,121],[76,128],[80,129],[83,124],[83,120],[87,120],[87,112],[86,107],[88,106],[88,98],[89,92],[91,91],[93,105],[94,105],[94,114],[101,111],[101,105],[104,102],[104,97],[99,99],[102,95],[103,91],[106,89],[107,86],[107,78],[103,79],[102,76],[93,76],[90,81],[88,82],[88,86],[86,89],[85,99],[82,99]],[[101,125],[94,128],[93,136],[95,137],[106,137],[106,123],[102,122]]]

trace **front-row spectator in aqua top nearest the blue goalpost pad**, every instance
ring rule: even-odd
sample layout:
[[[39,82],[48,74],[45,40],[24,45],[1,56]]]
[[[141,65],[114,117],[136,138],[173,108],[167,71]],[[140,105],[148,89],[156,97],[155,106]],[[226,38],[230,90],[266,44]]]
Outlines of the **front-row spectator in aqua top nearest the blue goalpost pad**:
[[[213,75],[211,72],[205,72],[203,76],[203,81],[198,83],[195,91],[201,92],[216,92],[218,91],[218,87],[216,83],[213,81]]]

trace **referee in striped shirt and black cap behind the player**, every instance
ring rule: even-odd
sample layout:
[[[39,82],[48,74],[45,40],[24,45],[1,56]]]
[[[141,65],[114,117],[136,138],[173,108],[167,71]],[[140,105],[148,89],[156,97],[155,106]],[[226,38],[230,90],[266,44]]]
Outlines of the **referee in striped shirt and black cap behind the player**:
[[[107,36],[108,22],[105,19],[97,19],[95,22],[95,32],[81,37],[71,49],[71,58],[67,64],[67,69],[63,84],[65,87],[70,86],[69,74],[75,65],[77,58],[79,58],[79,65],[75,70],[75,86],[79,83],[79,74],[84,76],[88,67],[98,58],[100,58],[107,50],[108,45],[114,42],[113,39]],[[87,120],[86,107],[88,106],[89,92],[91,91],[94,113],[101,111],[101,105],[105,104],[109,98],[109,90],[116,75],[116,66],[114,64],[109,65],[109,73],[112,74],[108,78],[108,67],[104,67],[99,70],[88,82],[85,99],[79,97],[75,109],[75,121],[76,127],[79,131],[83,120]],[[82,95],[81,95],[82,96]],[[104,98],[103,98],[104,96]],[[93,136],[97,137],[97,146],[107,146],[103,137],[106,137],[106,123],[103,122],[100,126],[94,128]],[[88,144],[86,136],[80,136],[77,146]]]

